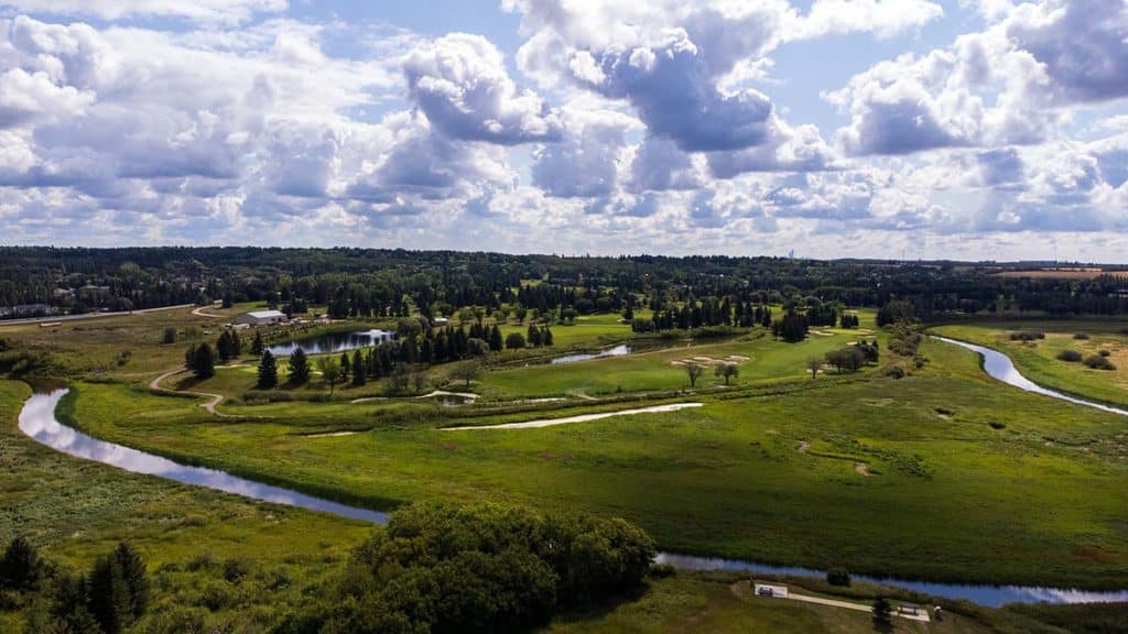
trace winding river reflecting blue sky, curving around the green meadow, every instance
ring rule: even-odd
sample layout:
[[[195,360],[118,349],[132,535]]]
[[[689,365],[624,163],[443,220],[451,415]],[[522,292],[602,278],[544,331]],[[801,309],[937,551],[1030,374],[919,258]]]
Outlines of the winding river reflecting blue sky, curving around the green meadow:
[[[987,373],[1003,382],[1026,391],[1034,391],[1054,398],[1060,398],[1077,405],[1096,407],[1105,412],[1128,415],[1128,411],[1075,398],[1038,386],[1019,373],[1019,371],[1014,368],[1014,364],[1011,362],[1011,359],[1001,352],[955,340],[944,337],[936,338],[978,352],[984,358],[984,369]],[[50,394],[36,394],[28,398],[19,414],[19,429],[36,441],[64,454],[113,465],[129,472],[155,475],[184,484],[214,488],[217,491],[223,491],[277,504],[300,507],[302,509],[310,509],[314,511],[324,511],[352,519],[365,520],[376,523],[385,523],[387,521],[386,513],[372,511],[370,509],[349,507],[346,504],[323,500],[320,497],[306,495],[303,493],[298,493],[279,486],[257,483],[246,478],[232,476],[218,469],[180,465],[167,458],[146,454],[144,451],[138,451],[136,449],[130,449],[113,442],[98,440],[60,423],[55,417],[55,407],[65,394],[65,389],[59,389]],[[690,570],[735,570],[764,574],[792,574],[807,576],[822,576],[826,574],[823,571],[804,567],[772,566],[740,560],[697,557],[675,553],[660,553],[656,561],[659,563],[669,563],[678,567]],[[931,583],[926,581],[908,581],[864,575],[854,575],[854,579],[858,581],[905,588],[950,599],[966,599],[988,607],[999,607],[1012,602],[1045,601],[1051,604],[1084,604],[1098,601],[1128,601],[1128,589],[1111,592],[1091,592],[1086,590],[1024,585]]]

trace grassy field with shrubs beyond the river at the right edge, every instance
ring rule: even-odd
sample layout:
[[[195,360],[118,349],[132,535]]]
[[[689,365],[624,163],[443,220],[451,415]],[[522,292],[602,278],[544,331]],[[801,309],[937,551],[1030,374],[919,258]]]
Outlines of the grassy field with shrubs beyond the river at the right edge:
[[[1128,405],[1128,322],[1082,319],[941,326],[932,332],[1006,353],[1029,379],[1083,397]],[[1013,341],[1011,333],[1040,332],[1046,338]],[[1082,356],[1109,352],[1116,370],[1094,370],[1058,359],[1063,351]]]

